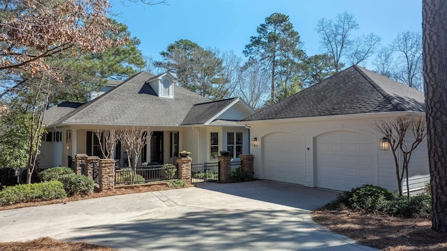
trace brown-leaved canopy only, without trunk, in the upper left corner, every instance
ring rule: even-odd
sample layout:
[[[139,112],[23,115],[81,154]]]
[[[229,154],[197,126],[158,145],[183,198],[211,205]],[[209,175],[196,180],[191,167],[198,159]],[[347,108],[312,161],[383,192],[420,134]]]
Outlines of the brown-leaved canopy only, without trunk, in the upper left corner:
[[[61,82],[45,58],[61,52],[99,53],[125,40],[106,36],[117,32],[107,18],[107,0],[0,1],[0,71],[34,77],[46,73]]]

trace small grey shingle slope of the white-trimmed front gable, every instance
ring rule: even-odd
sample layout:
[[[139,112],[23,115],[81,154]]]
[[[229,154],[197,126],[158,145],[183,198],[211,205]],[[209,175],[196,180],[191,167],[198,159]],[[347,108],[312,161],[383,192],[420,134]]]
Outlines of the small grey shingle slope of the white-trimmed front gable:
[[[198,125],[206,123],[236,99],[237,98],[228,98],[193,105],[182,122],[182,125]]]

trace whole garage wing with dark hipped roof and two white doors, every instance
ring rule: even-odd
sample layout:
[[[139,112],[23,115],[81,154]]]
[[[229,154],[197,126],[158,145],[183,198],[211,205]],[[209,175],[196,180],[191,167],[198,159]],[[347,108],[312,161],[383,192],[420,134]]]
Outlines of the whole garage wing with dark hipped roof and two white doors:
[[[352,66],[240,123],[251,128],[255,178],[332,190],[362,184],[397,190],[393,154],[379,149],[384,135],[371,125],[406,115],[425,116],[422,92]],[[412,142],[411,130],[406,137]],[[410,190],[426,182],[425,138],[411,155]]]

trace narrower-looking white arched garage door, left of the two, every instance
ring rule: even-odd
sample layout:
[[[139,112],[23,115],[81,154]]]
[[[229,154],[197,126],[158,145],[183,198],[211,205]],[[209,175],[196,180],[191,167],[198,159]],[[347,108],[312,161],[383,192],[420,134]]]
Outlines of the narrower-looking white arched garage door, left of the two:
[[[291,132],[274,132],[263,137],[263,178],[304,184],[304,140]]]

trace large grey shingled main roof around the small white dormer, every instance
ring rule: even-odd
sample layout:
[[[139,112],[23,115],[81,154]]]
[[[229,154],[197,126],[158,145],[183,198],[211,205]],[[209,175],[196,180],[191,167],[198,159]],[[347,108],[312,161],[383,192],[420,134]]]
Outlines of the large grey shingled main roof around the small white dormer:
[[[145,71],[138,73],[50,126],[60,123],[178,126],[193,105],[210,101],[176,85],[174,98],[159,97],[148,84],[155,77]]]

